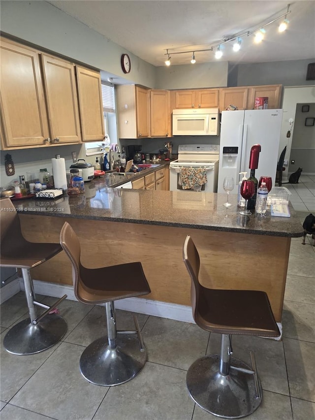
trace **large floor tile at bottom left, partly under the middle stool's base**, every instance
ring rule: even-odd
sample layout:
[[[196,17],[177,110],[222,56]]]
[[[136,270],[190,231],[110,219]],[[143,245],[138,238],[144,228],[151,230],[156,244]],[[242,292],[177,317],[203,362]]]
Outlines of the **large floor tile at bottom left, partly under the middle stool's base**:
[[[82,347],[61,343],[11,404],[58,420],[92,419],[108,388],[83,378],[79,370],[81,353]]]

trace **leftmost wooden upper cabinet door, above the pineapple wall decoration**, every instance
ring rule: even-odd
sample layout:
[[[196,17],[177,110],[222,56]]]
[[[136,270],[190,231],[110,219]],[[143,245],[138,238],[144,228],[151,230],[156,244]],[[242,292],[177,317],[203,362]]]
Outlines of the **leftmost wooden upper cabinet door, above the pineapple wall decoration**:
[[[43,145],[49,130],[38,54],[1,39],[0,65],[3,148]]]

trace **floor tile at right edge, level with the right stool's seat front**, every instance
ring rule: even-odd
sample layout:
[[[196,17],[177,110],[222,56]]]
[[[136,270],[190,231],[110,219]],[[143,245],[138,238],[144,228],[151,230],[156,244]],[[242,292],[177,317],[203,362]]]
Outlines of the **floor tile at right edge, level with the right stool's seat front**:
[[[284,301],[283,336],[315,343],[315,305]]]

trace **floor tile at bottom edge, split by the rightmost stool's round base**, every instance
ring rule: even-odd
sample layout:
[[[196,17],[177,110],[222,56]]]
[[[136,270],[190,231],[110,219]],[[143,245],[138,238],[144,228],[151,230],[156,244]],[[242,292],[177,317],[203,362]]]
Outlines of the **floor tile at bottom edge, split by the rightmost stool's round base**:
[[[202,410],[197,404],[192,420],[216,420],[217,416]],[[249,420],[292,420],[290,397],[275,392],[263,391],[260,406],[246,419]],[[306,419],[305,419],[306,420]]]

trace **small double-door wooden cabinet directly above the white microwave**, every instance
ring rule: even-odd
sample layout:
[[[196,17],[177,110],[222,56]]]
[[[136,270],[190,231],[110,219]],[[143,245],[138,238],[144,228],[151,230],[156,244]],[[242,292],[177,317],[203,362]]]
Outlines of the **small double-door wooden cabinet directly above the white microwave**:
[[[219,89],[175,91],[175,108],[218,108]]]

